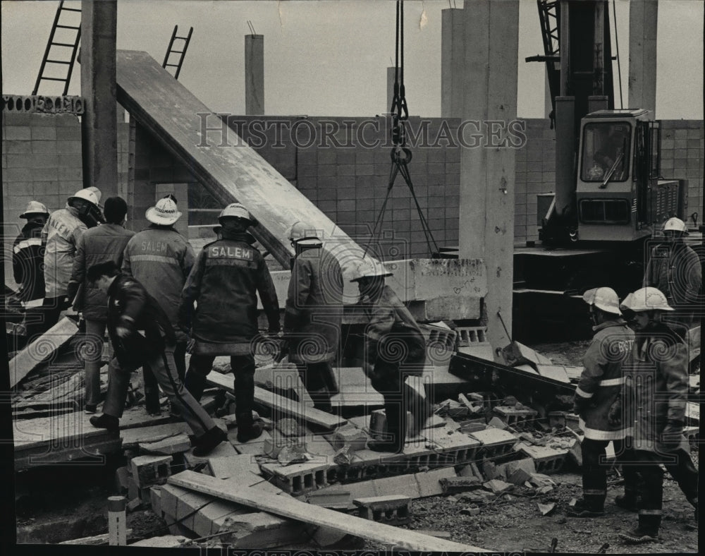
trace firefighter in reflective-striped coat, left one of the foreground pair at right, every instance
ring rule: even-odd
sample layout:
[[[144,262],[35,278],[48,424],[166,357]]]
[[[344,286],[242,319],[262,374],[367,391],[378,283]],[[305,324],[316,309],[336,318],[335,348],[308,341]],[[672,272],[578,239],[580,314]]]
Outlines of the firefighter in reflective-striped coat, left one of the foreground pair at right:
[[[594,517],[604,514],[606,447],[614,442],[615,453],[619,454],[627,433],[621,422],[609,418],[609,411],[618,404],[622,367],[632,354],[634,332],[621,318],[619,298],[613,289],[590,289],[582,298],[589,305],[595,335],[583,358],[574,399],[574,411],[580,416],[580,428],[585,435],[581,444],[583,497],[568,514]]]

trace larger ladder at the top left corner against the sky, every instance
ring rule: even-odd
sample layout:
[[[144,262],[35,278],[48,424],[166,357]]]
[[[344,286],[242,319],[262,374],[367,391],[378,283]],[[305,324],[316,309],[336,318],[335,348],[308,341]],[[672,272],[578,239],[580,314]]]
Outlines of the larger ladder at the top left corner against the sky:
[[[72,18],[70,12],[81,13],[80,8],[67,8],[63,5],[63,0],[59,4],[59,8],[56,10],[56,16],[54,17],[54,25],[51,26],[51,34],[49,35],[49,42],[47,43],[47,49],[44,51],[44,58],[42,59],[42,66],[39,67],[39,75],[37,75],[37,83],[35,83],[35,88],[32,90],[32,95],[37,95],[39,92],[39,85],[42,81],[58,81],[63,83],[63,92],[61,95],[66,96],[68,92],[68,85],[71,82],[71,73],[73,73],[73,65],[76,61],[76,54],[78,53],[78,43],[81,40],[81,22],[80,16],[78,23],[71,21],[75,19]],[[63,19],[62,17],[63,16]],[[59,37],[56,35],[57,30],[59,31]],[[68,50],[71,49],[71,50]],[[51,57],[50,57],[51,56]],[[49,66],[49,64],[51,64]],[[47,68],[63,68],[66,71],[63,76],[54,77],[47,75]],[[61,73],[61,71],[57,72]],[[55,74],[56,75],[56,74]]]

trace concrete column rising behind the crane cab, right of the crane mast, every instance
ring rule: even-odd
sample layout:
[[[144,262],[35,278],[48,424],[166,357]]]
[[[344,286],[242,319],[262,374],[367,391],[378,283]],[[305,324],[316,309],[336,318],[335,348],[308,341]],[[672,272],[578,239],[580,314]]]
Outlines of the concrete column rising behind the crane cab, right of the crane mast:
[[[656,117],[657,23],[657,0],[630,0],[628,106],[651,110],[654,117]]]

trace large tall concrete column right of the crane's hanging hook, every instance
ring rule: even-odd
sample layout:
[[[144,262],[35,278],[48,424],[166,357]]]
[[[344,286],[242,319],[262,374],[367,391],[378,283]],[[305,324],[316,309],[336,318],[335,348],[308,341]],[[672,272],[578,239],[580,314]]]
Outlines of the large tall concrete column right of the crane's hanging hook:
[[[481,137],[474,145],[478,131],[468,126],[463,133],[460,258],[484,259],[484,310],[497,349],[510,342],[498,311],[512,330],[515,149],[507,132],[517,117],[519,0],[473,0],[464,11],[462,120],[479,121]]]

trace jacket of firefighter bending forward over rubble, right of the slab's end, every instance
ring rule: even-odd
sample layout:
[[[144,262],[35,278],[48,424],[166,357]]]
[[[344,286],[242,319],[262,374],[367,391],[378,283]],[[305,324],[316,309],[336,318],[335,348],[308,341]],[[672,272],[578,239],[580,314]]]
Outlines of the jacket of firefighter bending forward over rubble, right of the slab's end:
[[[426,340],[404,303],[385,285],[374,299],[360,300],[369,318],[365,328],[365,368],[380,366],[405,369],[407,375],[420,376],[426,361]],[[384,365],[379,365],[384,363]]]

